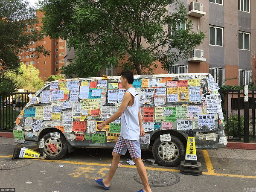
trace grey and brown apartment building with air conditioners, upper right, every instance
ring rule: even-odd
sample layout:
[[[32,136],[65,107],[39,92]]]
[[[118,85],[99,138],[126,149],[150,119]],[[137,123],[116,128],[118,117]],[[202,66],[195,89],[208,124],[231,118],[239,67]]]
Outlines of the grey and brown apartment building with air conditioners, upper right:
[[[220,85],[255,83],[256,4],[252,0],[180,2],[187,6],[194,32],[200,30],[206,38],[169,73],[211,73]],[[170,6],[169,12],[173,10]]]

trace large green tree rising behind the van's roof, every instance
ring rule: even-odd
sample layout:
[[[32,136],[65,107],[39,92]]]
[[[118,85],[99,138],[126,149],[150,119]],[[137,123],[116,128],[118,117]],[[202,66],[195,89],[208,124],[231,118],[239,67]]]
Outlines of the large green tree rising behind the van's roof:
[[[74,47],[73,64],[62,73],[95,76],[102,68],[120,67],[152,73],[160,61],[168,70],[204,40],[192,32],[184,4],[168,15],[176,0],[44,0],[43,30],[67,39]],[[186,28],[177,30],[177,25]],[[168,28],[169,26],[169,28]]]

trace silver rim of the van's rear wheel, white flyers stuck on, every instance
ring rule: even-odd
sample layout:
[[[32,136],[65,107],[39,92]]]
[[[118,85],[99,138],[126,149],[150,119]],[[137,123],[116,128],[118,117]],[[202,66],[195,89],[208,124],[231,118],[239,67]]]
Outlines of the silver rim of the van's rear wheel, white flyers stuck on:
[[[173,162],[180,155],[179,148],[172,141],[165,141],[160,143],[160,145],[157,148],[157,153],[158,157],[160,157],[162,160],[166,162]]]

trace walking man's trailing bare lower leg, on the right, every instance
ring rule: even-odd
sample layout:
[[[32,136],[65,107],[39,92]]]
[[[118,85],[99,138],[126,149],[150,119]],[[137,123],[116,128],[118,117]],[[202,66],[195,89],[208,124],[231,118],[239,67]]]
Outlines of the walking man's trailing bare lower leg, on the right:
[[[151,189],[150,189],[150,186],[148,183],[148,175],[147,175],[144,163],[141,160],[141,157],[137,158],[137,159],[132,159],[132,160],[134,161],[134,163],[137,167],[138,173],[140,175],[140,179],[143,183],[143,191],[151,192]]]

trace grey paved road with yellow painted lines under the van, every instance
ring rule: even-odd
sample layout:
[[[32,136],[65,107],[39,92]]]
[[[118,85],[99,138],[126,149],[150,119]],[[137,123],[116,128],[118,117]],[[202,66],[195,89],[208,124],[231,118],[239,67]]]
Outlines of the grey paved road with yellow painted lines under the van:
[[[0,160],[11,161],[15,148],[12,138],[0,138]],[[33,148],[33,147],[30,147]],[[35,149],[37,150],[37,149]],[[179,167],[152,166],[146,161],[148,177],[164,175],[180,180],[171,186],[152,187],[153,192],[256,192],[256,151],[240,149],[197,150],[203,175],[180,174]],[[143,186],[134,180],[135,166],[128,165],[128,153],[122,156],[111,183],[113,192],[135,192]],[[143,152],[142,158],[153,158]],[[111,163],[111,150],[81,148],[62,160],[17,160],[30,163],[17,169],[0,170],[0,188],[15,188],[17,192],[103,192],[94,178],[105,177]],[[63,165],[64,167],[60,167]],[[157,177],[155,177],[157,178]]]

